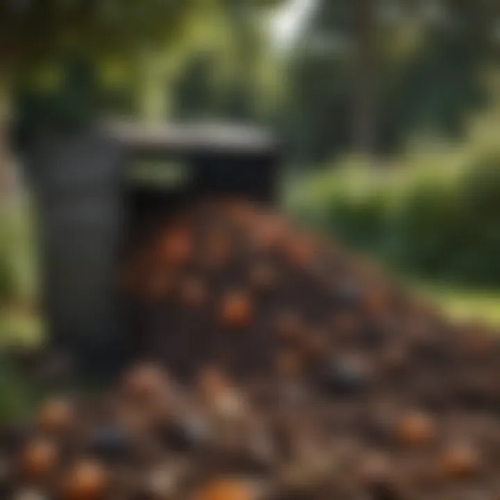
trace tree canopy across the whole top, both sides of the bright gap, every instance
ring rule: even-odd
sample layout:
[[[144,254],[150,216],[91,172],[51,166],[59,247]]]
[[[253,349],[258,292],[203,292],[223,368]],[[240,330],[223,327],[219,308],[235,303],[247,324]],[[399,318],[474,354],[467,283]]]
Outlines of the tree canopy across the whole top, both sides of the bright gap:
[[[61,65],[72,68],[67,106],[80,110],[79,89],[92,85],[78,58],[94,65],[100,101],[132,113],[254,118],[272,103],[308,163],[348,148],[392,153],[429,129],[460,134],[486,102],[497,0],[318,0],[284,62],[260,16],[281,1],[5,0],[0,64],[20,75],[17,89],[50,88]],[[279,85],[288,99],[278,108]]]

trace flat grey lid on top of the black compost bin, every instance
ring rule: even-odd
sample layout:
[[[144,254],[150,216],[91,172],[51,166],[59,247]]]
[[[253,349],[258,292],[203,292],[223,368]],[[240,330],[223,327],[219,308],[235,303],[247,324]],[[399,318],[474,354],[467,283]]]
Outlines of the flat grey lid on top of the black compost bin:
[[[111,120],[105,127],[133,153],[262,154],[272,153],[278,147],[271,133],[247,124]]]

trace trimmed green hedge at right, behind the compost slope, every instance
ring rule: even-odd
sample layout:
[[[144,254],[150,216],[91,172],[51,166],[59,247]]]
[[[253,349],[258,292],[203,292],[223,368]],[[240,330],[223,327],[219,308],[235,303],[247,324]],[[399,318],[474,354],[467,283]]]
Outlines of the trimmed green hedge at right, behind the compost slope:
[[[385,176],[373,168],[350,181],[342,170],[319,174],[292,209],[407,272],[500,285],[500,151],[451,169],[413,166]]]

